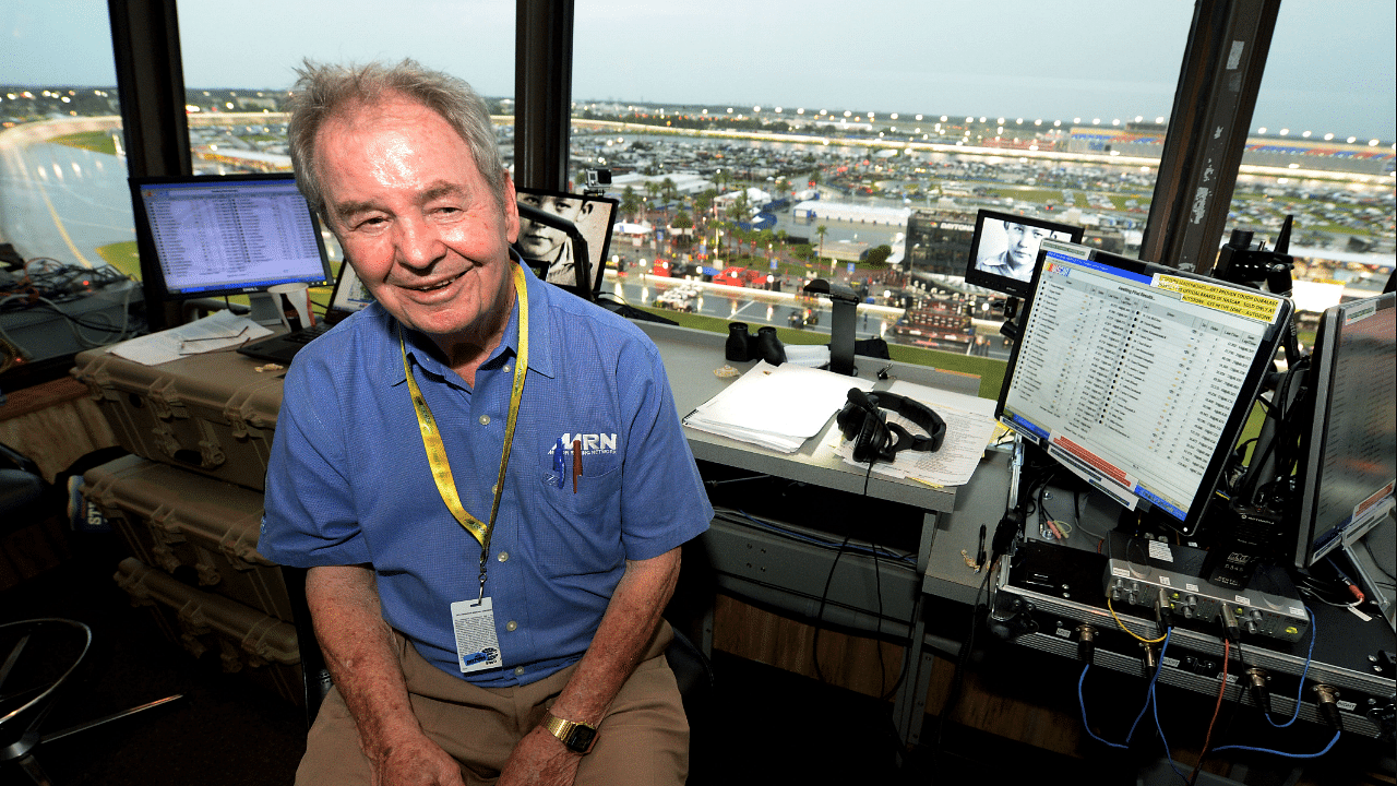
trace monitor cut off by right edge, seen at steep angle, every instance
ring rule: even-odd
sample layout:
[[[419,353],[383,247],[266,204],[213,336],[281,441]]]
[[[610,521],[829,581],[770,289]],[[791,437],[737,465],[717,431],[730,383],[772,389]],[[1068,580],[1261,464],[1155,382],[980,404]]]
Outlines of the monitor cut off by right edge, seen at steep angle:
[[[1368,533],[1397,481],[1397,295],[1324,309],[1309,383],[1315,414],[1302,441],[1295,566]]]

